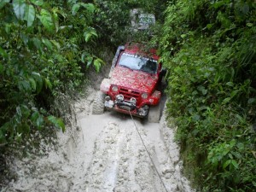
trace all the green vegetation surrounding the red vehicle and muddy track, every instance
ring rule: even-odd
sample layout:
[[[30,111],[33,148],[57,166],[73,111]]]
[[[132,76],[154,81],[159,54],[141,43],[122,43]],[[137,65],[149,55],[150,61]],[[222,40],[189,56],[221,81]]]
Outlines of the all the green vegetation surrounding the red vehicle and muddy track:
[[[156,16],[149,31],[131,28],[137,8]],[[195,189],[256,189],[255,1],[1,0],[0,19],[1,153],[65,131],[68,96],[102,52],[145,41],[167,69],[167,119]]]

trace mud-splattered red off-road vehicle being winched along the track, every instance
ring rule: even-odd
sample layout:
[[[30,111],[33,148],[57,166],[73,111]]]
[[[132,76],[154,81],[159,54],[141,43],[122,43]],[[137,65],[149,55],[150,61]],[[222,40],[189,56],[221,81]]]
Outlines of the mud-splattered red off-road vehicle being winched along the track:
[[[92,113],[104,109],[131,113],[151,122],[160,119],[160,84],[164,74],[155,49],[143,44],[119,46],[113,58],[109,79],[103,79]]]

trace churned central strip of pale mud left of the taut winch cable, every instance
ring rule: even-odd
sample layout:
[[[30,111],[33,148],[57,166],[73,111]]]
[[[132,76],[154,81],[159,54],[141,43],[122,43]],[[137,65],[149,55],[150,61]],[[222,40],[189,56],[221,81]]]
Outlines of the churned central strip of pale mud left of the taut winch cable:
[[[109,123],[96,139],[86,174],[88,191],[158,191],[154,170],[142,143],[130,127]]]

